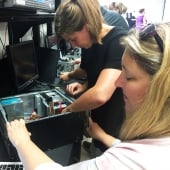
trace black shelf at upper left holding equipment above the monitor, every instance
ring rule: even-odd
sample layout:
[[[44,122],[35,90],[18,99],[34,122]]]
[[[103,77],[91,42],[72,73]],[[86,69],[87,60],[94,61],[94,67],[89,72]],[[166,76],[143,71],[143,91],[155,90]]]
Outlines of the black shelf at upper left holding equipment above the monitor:
[[[0,8],[0,22],[8,23],[9,44],[18,43],[19,39],[32,27],[35,45],[40,45],[40,24],[47,24],[47,35],[52,34],[54,14],[23,13]]]

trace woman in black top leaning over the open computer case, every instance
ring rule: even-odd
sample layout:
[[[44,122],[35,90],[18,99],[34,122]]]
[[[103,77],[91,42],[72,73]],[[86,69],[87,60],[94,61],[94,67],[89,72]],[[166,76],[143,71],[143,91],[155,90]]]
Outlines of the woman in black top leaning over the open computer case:
[[[63,112],[91,110],[93,121],[108,134],[118,137],[124,120],[124,102],[122,91],[113,82],[121,73],[124,49],[119,39],[126,31],[104,23],[97,0],[61,3],[56,11],[55,31],[58,40],[64,38],[73,48],[82,48],[82,61],[76,74],[87,76],[84,84],[76,82],[67,86],[73,95],[84,93]],[[93,144],[100,153],[107,148],[99,141],[93,140]]]

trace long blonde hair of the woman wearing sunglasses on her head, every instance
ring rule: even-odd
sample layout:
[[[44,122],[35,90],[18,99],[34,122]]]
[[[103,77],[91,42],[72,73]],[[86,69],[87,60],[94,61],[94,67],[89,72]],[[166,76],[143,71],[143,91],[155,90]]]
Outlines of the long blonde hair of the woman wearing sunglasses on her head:
[[[154,36],[141,40],[137,30],[131,30],[122,39],[130,56],[151,76],[144,101],[135,113],[127,113],[120,133],[124,140],[170,135],[170,23],[155,27],[163,40],[163,52]]]

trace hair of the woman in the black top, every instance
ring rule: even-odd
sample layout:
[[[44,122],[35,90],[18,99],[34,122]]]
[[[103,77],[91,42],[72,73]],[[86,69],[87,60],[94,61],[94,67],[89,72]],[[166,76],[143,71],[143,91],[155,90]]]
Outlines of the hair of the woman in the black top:
[[[98,0],[66,0],[56,10],[55,32],[60,40],[63,34],[81,31],[86,24],[92,42],[101,43],[103,22]]]

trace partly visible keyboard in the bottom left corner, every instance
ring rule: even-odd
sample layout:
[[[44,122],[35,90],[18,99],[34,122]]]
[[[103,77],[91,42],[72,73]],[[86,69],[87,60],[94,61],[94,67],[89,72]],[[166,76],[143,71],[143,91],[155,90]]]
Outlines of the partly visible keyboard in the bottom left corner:
[[[0,162],[0,170],[24,170],[22,162]]]

